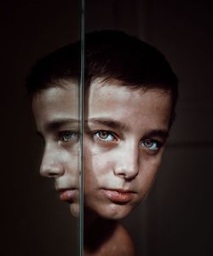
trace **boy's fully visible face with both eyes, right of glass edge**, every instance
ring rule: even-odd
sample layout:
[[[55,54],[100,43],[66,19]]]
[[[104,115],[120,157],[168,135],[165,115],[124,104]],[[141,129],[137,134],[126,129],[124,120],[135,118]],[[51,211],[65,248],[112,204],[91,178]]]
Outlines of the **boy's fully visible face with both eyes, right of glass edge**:
[[[170,94],[116,82],[90,85],[84,136],[84,207],[124,218],[147,195],[169,133]]]

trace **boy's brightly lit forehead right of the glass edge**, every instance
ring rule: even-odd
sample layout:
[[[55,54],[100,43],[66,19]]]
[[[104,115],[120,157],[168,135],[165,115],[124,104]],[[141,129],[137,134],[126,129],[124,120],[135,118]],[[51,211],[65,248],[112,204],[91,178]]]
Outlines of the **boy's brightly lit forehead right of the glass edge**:
[[[146,123],[155,129],[159,124],[169,125],[170,113],[171,97],[162,89],[131,90],[116,82],[103,85],[98,81],[89,88],[89,119],[106,117],[140,125]]]

